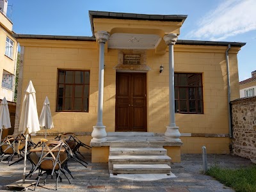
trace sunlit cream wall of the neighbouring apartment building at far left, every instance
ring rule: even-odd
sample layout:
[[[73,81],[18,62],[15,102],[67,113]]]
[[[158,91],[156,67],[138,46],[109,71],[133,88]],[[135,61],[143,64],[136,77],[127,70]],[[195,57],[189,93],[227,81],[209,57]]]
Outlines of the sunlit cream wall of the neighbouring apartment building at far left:
[[[3,17],[3,18],[2,18]],[[3,19],[3,20],[1,20]],[[10,74],[15,74],[15,66],[16,66],[16,54],[17,54],[17,41],[15,38],[10,35],[10,32],[4,29],[4,24],[6,24],[6,28],[10,28],[12,30],[12,23],[4,17],[2,13],[0,13],[0,99],[6,97],[6,100],[13,101],[13,91],[2,88],[2,79],[3,79],[3,70],[9,72]],[[5,55],[5,44],[6,44],[6,36],[8,36],[13,41],[13,56],[12,58],[8,58]],[[15,81],[15,79],[14,79]],[[14,83],[13,83],[14,84]]]

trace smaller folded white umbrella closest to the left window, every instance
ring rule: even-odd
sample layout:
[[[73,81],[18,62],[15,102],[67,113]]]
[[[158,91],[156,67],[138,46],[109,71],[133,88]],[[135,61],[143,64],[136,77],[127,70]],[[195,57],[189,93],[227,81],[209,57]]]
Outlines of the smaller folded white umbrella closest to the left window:
[[[41,129],[45,129],[45,138],[46,138],[46,129],[52,129],[54,127],[52,122],[50,102],[47,96],[44,100],[44,106],[42,108],[42,112],[39,118],[39,125]]]

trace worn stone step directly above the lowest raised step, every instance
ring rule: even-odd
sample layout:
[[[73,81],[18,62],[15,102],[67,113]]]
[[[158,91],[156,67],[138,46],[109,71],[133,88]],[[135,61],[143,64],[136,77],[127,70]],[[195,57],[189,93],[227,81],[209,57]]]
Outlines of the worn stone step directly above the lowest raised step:
[[[109,156],[109,173],[113,172],[113,164],[167,164],[172,159],[168,156]]]

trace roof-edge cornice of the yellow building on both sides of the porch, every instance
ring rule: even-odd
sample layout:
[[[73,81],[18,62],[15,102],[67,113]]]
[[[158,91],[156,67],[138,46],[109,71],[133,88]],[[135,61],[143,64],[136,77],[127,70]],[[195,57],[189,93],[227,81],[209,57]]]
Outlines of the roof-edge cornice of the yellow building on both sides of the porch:
[[[22,35],[13,34],[20,45],[40,47],[53,44],[57,47],[67,44],[71,47],[84,47],[86,44],[92,45],[90,42],[96,42],[93,36],[60,36],[60,35]],[[86,42],[86,43],[85,43]],[[73,45],[72,45],[73,44]],[[192,51],[192,52],[225,52],[227,45],[231,45],[230,53],[237,53],[246,43],[241,42],[213,42],[200,40],[177,40],[174,51]],[[207,46],[207,49],[205,49]]]

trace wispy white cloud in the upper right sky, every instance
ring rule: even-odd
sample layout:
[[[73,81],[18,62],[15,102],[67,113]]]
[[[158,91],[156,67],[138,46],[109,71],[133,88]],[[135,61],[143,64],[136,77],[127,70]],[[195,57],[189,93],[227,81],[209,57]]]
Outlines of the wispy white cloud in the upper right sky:
[[[256,1],[228,0],[207,13],[198,28],[188,34],[189,38],[224,40],[256,30]]]

